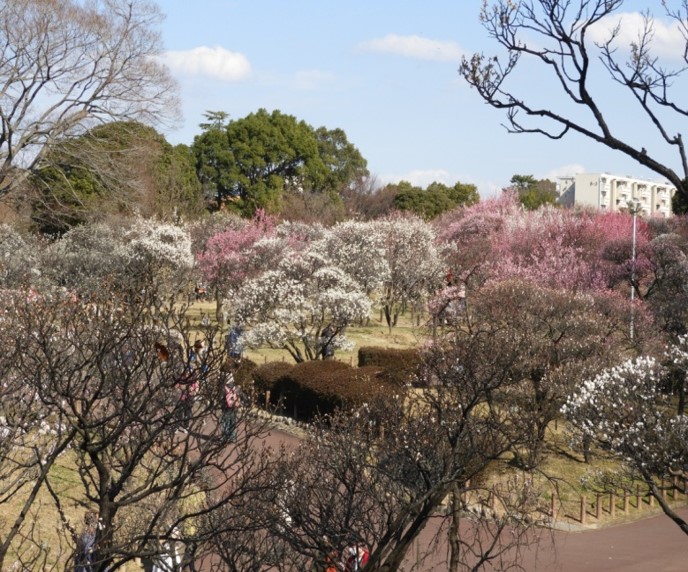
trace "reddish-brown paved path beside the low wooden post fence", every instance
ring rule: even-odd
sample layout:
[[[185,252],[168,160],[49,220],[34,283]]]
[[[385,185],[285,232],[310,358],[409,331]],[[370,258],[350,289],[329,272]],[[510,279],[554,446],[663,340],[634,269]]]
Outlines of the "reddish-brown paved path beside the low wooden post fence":
[[[279,429],[265,439],[273,447],[298,440]],[[688,509],[678,512],[688,519]],[[688,572],[688,536],[664,515],[583,532],[556,531],[526,547],[519,564],[527,572]],[[422,572],[443,570],[446,566],[428,564]]]

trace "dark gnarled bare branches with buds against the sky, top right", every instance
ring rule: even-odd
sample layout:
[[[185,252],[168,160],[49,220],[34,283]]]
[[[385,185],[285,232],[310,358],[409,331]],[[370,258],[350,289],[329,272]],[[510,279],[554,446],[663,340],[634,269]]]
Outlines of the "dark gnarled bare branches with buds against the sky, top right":
[[[481,22],[489,35],[507,50],[507,59],[501,61],[498,57],[474,54],[463,59],[459,72],[485,102],[506,111],[509,132],[539,133],[551,139],[561,139],[569,132],[579,133],[624,153],[671,181],[685,200],[688,199],[688,159],[683,135],[674,129],[677,121],[688,115],[688,106],[681,100],[684,92],[679,81],[688,63],[688,1],[681,0],[680,7],[675,9],[668,4],[662,2],[666,15],[676,24],[684,40],[683,48],[676,54],[683,62],[673,69],[666,67],[653,52],[655,30],[649,11],[630,46],[619,45],[621,24],[613,16],[623,7],[624,0],[485,0]],[[610,25],[610,31],[604,40],[596,42],[593,38],[599,36],[595,32],[604,23]],[[623,53],[628,54],[625,59]],[[544,64],[573,108],[565,103],[555,105],[552,98],[542,107],[513,91],[508,80],[517,75],[522,58],[524,65],[526,60],[533,59]],[[608,91],[608,86],[596,85],[596,64],[606,69],[611,80],[626,89],[635,101],[638,116],[634,120],[644,117],[655,129],[659,139],[655,148],[650,148],[647,142],[628,140],[612,125],[611,110],[605,110],[601,103],[601,95]],[[582,113],[578,114],[578,110]],[[523,115],[532,122],[523,122]],[[677,154],[678,170],[660,158],[662,144]]]

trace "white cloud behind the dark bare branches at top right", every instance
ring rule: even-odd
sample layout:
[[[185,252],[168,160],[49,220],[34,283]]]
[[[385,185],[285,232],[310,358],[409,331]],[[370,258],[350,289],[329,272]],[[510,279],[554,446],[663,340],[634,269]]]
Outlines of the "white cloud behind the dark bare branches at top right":
[[[637,43],[639,34],[643,29],[643,15],[638,12],[625,12],[609,16],[600,20],[590,28],[590,39],[602,43],[609,39],[611,31],[619,26],[619,35],[614,46],[619,49],[629,50],[631,43]],[[686,40],[681,34],[679,26],[674,21],[653,21],[654,36],[652,38],[652,51],[657,56],[670,59],[681,59]]]

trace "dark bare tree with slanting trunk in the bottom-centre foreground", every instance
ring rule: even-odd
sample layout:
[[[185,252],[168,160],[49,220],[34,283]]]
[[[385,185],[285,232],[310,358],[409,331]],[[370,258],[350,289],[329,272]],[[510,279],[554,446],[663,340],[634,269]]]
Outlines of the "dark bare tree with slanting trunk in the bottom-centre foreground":
[[[264,526],[280,569],[322,569],[351,545],[370,549],[371,571],[417,569],[411,560],[440,549],[451,570],[517,564],[515,546],[540,522],[533,491],[505,486],[492,509],[479,502],[515,446],[508,416],[493,406],[516,359],[502,342],[466,332],[441,340],[426,354],[422,392],[340,411],[281,459],[269,475],[274,493],[253,505],[272,514]]]

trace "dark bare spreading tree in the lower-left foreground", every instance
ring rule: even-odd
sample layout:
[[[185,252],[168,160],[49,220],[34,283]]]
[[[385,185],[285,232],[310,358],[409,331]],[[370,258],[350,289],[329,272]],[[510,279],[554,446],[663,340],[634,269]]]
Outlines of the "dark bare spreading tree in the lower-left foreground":
[[[151,304],[145,293],[123,305],[105,291],[88,303],[54,292],[14,300],[2,330],[14,342],[0,362],[0,503],[13,497],[12,507],[21,506],[4,512],[11,520],[0,528],[1,567],[8,554],[24,569],[64,566],[83,511],[98,519],[94,570],[155,559],[170,546],[201,558],[225,530],[213,514],[241,505],[269,470],[265,422],[242,409],[236,442],[221,430],[217,331],[202,334],[207,352],[192,351],[201,334],[185,309],[159,307],[152,322]],[[62,554],[35,527],[39,502],[56,509]]]

